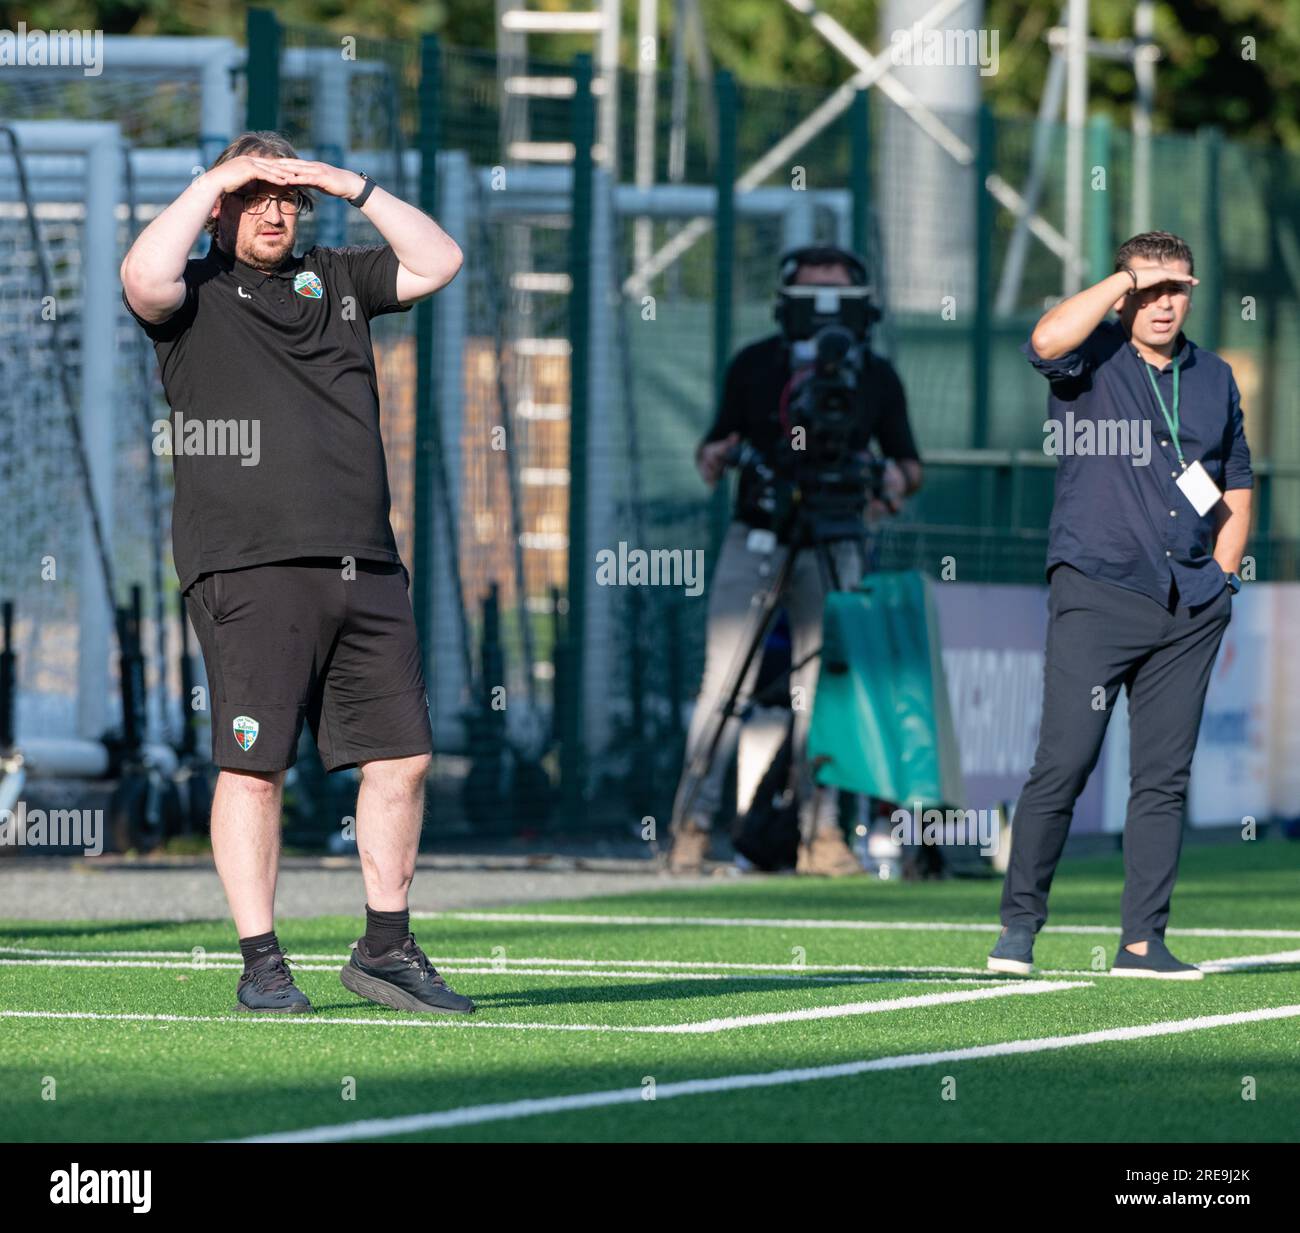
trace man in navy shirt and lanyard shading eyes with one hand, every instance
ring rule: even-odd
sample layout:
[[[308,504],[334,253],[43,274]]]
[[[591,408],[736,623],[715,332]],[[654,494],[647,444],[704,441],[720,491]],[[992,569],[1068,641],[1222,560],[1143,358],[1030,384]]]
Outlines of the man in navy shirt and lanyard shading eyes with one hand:
[[[1043,723],[1017,802],[996,972],[1032,970],[1074,802],[1123,685],[1131,792],[1110,974],[1201,978],[1169,952],[1165,926],[1205,689],[1242,585],[1253,477],[1232,369],[1182,333],[1193,286],[1182,239],[1135,235],[1115,273],[1045,313],[1023,347],[1052,382],[1046,427],[1062,457]],[[1112,308],[1118,321],[1104,320]]]

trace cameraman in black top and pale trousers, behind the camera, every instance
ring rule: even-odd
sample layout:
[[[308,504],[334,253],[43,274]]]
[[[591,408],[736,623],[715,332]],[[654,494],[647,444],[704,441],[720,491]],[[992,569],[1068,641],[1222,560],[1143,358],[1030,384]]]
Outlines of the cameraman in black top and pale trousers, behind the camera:
[[[784,286],[864,287],[867,271],[858,258],[842,248],[810,246],[781,258]],[[859,293],[861,294],[861,293]],[[742,445],[767,467],[776,464],[779,450],[788,445],[786,412],[792,393],[809,376],[814,355],[811,338],[790,341],[777,332],[741,349],[727,369],[718,418],[696,451],[696,466],[712,488],[729,466],[736,464]],[[862,368],[854,390],[857,421],[850,444],[866,458],[875,440],[888,459],[879,498],[872,497],[872,516],[894,514],[901,501],[920,486],[920,462],[907,423],[907,403],[902,384],[888,360],[861,349]],[[729,678],[738,667],[748,639],[754,636],[750,619],[760,597],[780,572],[788,544],[777,545],[772,502],[764,501],[768,485],[759,468],[744,466],[736,511],[722,545],[708,593],[708,632],[705,674],[699,698],[686,739],[686,767],[673,805],[673,840],[668,855],[672,873],[698,873],[708,852],[710,829],[723,796],[723,776],[734,748],[737,722],[731,717],[718,744],[716,756],[692,791],[690,760],[702,740],[707,740],[725,701]],[[850,538],[829,545],[841,588],[855,587],[862,576],[859,544]],[[826,585],[816,553],[800,551],[793,574],[780,597],[790,624],[792,662],[800,665],[818,649],[822,640],[822,611]],[[760,656],[755,656],[741,687],[746,697],[754,687]],[[861,873],[857,858],[844,842],[837,815],[837,793],[815,787],[805,765],[805,743],[811,718],[818,659],[814,657],[790,674],[790,688],[801,689],[794,706],[794,782],[800,805],[800,852],[797,870],[810,874]]]

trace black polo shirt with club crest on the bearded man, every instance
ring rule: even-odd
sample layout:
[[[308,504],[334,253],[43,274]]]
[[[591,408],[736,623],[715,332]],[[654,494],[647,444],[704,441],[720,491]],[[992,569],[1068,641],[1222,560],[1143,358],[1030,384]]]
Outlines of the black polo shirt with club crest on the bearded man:
[[[309,248],[272,274],[216,245],[153,339],[172,407],[172,548],[200,574],[344,557],[399,562],[369,320],[404,312],[391,246]],[[195,425],[199,425],[196,429]]]

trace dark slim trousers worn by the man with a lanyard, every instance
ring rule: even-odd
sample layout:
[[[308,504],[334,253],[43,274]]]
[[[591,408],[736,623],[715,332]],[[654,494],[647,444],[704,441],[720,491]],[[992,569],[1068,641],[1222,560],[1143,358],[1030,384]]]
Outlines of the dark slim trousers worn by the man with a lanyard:
[[[1043,724],[1011,827],[1004,925],[1043,927],[1074,802],[1123,685],[1131,784],[1119,944],[1165,936],[1205,689],[1231,615],[1227,587],[1188,609],[1176,594],[1162,606],[1071,566],[1052,571]]]

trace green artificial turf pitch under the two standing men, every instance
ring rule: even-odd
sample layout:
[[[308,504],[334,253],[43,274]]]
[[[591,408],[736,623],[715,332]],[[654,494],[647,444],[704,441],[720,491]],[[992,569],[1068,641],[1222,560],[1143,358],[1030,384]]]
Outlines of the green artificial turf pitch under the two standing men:
[[[1121,883],[1118,857],[1067,862],[1053,891],[1049,926],[1114,927]],[[1300,936],[1176,934],[1178,929],[1297,931],[1297,888],[1300,845],[1191,848],[1183,857],[1169,943],[1176,955],[1196,962],[1300,951]],[[506,920],[456,913],[416,920],[417,939],[448,982],[474,998],[478,1013],[472,1021],[421,1020],[376,1007],[343,988],[337,972],[360,930],[359,917],[278,923],[298,985],[318,1012],[290,1022],[233,1012],[238,952],[228,922],[4,920],[0,946],[22,949],[0,955],[20,961],[0,966],[0,1011],[217,1021],[4,1017],[0,1125],[10,1141],[242,1138],[503,1102],[630,1091],[655,1099],[493,1116],[408,1135],[400,1128],[380,1128],[380,1135],[476,1141],[1300,1138],[1300,1017],[1049,1052],[928,1060],[780,1086],[671,1094],[671,1085],[692,1080],[762,1076],[1300,1004],[1300,962],[1186,983],[1091,975],[1097,965],[1109,965],[1118,933],[1039,936],[1035,960],[1040,970],[1034,979],[1063,986],[1091,978],[1088,987],[707,1034],[628,1030],[1008,987],[1011,982],[993,974],[933,970],[936,965],[983,969],[996,933],[998,890],[997,882],[774,878],[705,887],[666,882],[663,891],[498,909]],[[647,920],[618,925],[526,918],[538,914]],[[655,920],[673,916],[784,923],[719,927]],[[829,923],[844,921],[971,922],[987,929]],[[196,947],[204,948],[203,966],[190,959]],[[142,951],[185,966],[82,966],[94,956],[68,953],[49,957],[70,960],[69,965],[47,965],[35,962],[39,956],[31,949]],[[151,961],[148,956],[120,960]],[[534,959],[545,961],[536,966],[559,968],[560,974],[529,973],[526,961]],[[670,962],[783,966],[741,972],[672,968]],[[835,964],[893,970],[837,973],[816,966]],[[467,968],[486,970],[459,970]],[[723,979],[688,978],[692,974]],[[867,975],[888,979],[868,982]],[[365,1022],[338,1022],[342,1018]],[[419,1025],[398,1025],[411,1021]],[[430,1022],[437,1026],[422,1026]],[[533,1026],[477,1026],[497,1024]],[[555,1030],[560,1025],[593,1030]],[[55,1099],[48,1099],[51,1091]]]

